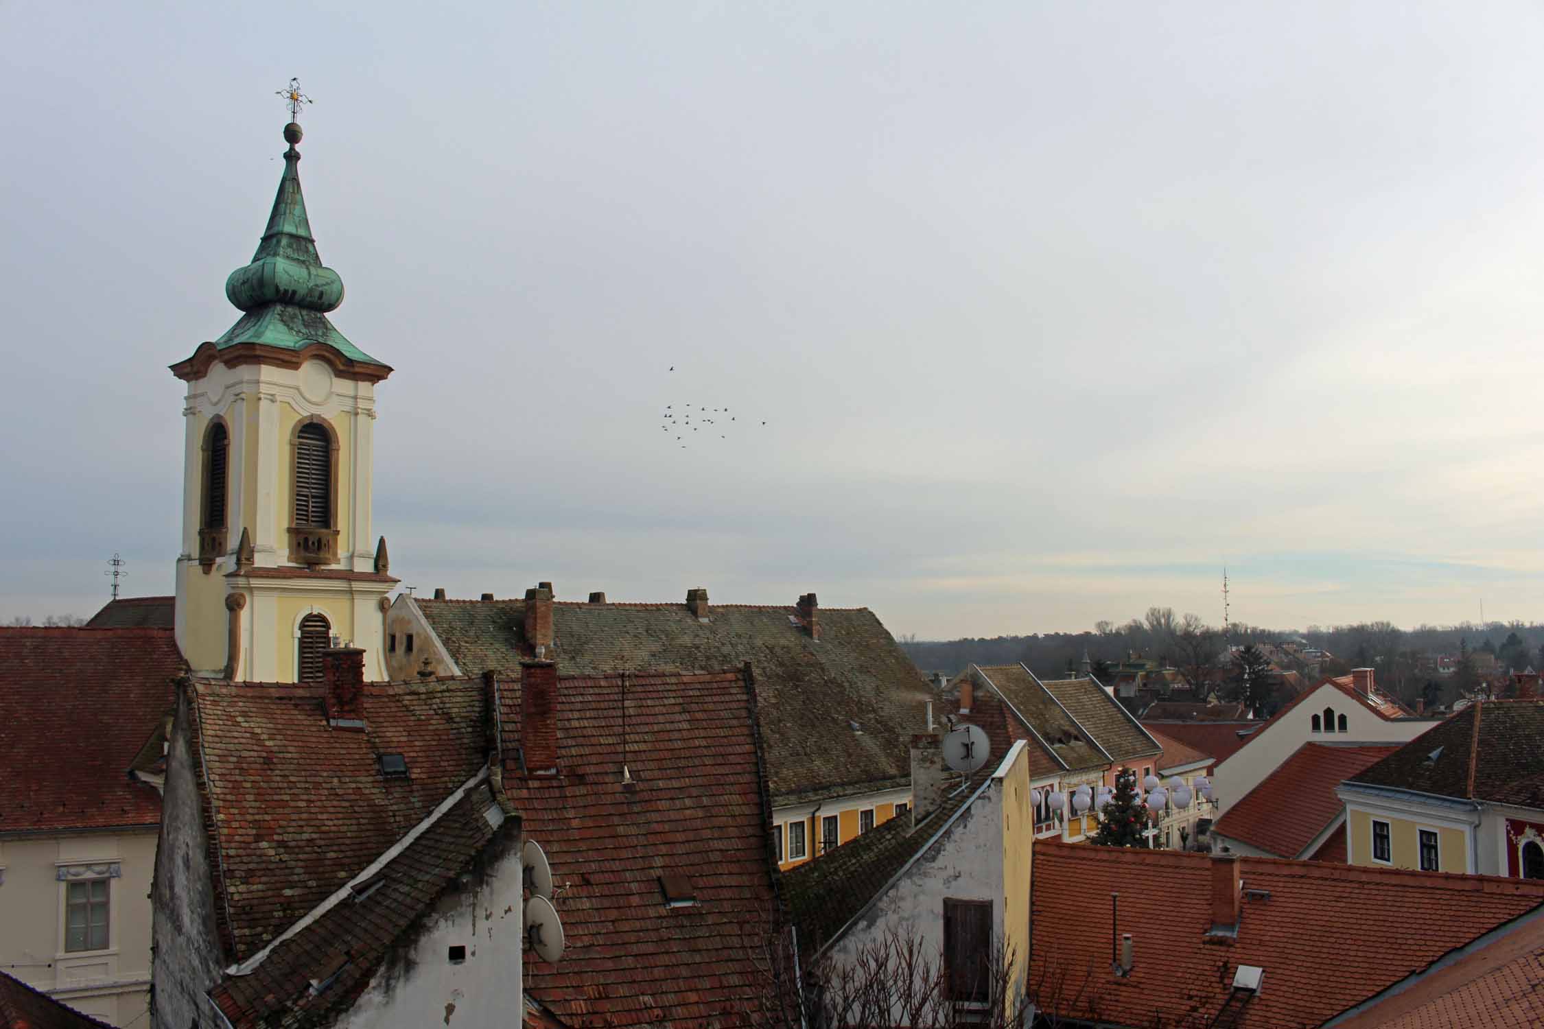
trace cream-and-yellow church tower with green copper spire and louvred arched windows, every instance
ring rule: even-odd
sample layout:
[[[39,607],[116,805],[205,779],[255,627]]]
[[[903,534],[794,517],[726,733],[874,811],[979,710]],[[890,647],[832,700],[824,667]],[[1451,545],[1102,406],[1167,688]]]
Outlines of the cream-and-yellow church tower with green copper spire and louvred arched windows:
[[[298,83],[289,97],[298,113]],[[225,279],[241,318],[171,366],[187,383],[176,637],[198,673],[321,677],[332,637],[384,679],[386,540],[371,534],[375,384],[391,367],[334,329],[300,190],[301,130],[252,264]]]

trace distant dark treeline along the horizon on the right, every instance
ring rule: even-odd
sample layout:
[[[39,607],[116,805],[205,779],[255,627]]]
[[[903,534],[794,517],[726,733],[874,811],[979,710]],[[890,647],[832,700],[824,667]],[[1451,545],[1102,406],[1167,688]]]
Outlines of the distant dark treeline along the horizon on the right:
[[[1195,616],[1177,617],[1172,608],[1149,608],[1147,617],[1132,619],[1124,625],[1098,622],[1085,633],[1044,633],[1031,636],[997,636],[991,639],[916,640],[903,639],[902,646],[911,654],[917,668],[954,674],[968,663],[1008,665],[1024,662],[1038,676],[1058,676],[1076,670],[1084,651],[1093,662],[1116,663],[1132,654],[1161,660],[1166,665],[1186,668],[1190,640],[1201,633],[1215,639],[1215,653],[1221,656],[1227,645],[1288,643],[1294,640],[1329,651],[1334,662],[1328,671],[1345,666],[1382,668],[1390,685],[1403,687],[1417,677],[1422,659],[1439,654],[1485,651],[1498,654],[1498,660],[1515,666],[1532,665],[1544,668],[1539,648],[1544,646],[1544,625],[1522,622],[1464,622],[1459,625],[1419,625],[1400,629],[1390,622],[1360,622],[1356,625],[1322,626],[1306,629],[1269,629],[1255,625],[1235,623],[1224,634],[1204,625]]]

